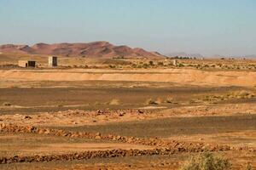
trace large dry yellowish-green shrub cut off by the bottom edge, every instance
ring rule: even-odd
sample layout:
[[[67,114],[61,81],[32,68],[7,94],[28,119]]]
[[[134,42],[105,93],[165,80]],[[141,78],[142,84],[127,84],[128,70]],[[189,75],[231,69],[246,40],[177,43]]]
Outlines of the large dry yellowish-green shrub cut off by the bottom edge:
[[[180,170],[228,170],[230,167],[228,159],[214,156],[212,153],[202,153],[191,157]]]

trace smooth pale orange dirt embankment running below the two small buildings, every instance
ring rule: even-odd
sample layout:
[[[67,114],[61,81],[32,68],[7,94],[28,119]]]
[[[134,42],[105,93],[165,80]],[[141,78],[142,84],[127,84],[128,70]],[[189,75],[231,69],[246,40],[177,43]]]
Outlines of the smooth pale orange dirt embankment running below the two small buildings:
[[[3,81],[131,81],[174,82],[185,85],[207,86],[256,86],[253,71],[198,71],[170,69],[165,71],[0,71]]]

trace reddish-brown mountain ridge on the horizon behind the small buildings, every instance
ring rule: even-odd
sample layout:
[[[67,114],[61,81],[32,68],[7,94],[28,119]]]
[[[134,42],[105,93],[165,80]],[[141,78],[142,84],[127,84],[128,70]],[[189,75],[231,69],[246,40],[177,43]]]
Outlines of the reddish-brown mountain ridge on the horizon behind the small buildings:
[[[5,44],[0,46],[2,53],[15,54],[46,54],[60,56],[80,56],[90,58],[164,58],[157,52],[148,52],[143,48],[114,46],[109,42],[79,42],[79,43],[37,43],[33,46]]]

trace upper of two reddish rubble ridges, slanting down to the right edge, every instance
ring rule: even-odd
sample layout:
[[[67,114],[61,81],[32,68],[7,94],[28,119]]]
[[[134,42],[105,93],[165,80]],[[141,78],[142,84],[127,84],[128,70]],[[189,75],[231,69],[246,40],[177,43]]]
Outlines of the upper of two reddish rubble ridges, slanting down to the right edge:
[[[224,150],[249,150],[255,151],[248,147],[230,147],[221,144],[204,144],[202,142],[183,142],[177,140],[165,140],[158,138],[135,138],[125,137],[115,134],[73,132],[62,129],[34,127],[34,126],[18,126],[12,124],[0,124],[0,132],[2,133],[36,133],[48,134],[54,136],[62,136],[67,138],[84,138],[84,139],[101,139],[105,141],[120,142],[126,144],[142,144],[154,146],[158,148],[168,148],[179,152],[200,152],[200,151],[224,151]]]

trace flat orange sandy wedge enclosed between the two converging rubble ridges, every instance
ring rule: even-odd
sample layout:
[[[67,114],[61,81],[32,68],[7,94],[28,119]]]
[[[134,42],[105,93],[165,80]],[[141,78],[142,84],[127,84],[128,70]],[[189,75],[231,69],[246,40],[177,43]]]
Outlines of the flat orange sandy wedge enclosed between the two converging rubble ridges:
[[[32,156],[81,152],[86,150],[147,150],[154,147],[140,144],[108,143],[93,140],[71,140],[37,134],[0,135],[0,156]]]

